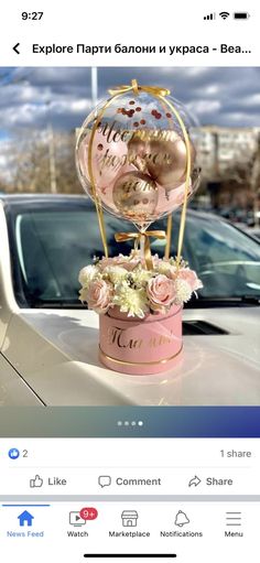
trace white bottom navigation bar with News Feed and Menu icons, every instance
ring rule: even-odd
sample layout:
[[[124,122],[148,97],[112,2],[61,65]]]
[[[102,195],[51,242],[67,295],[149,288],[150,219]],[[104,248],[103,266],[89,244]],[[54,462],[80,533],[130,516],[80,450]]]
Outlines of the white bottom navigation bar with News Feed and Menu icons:
[[[79,511],[85,502],[50,502],[51,507],[33,508],[33,526],[19,527],[18,516],[25,507],[3,508],[0,506],[0,540],[3,561],[14,563],[78,563],[96,560],[83,559],[84,553],[177,553],[176,563],[257,563],[259,549],[254,541],[259,534],[259,502],[90,502],[98,510],[98,518],[86,526],[69,526],[69,511]],[[137,528],[123,528],[123,510],[138,512]],[[188,523],[182,528],[175,524],[178,511],[186,515]],[[226,512],[240,511],[241,526],[226,526]],[[24,533],[44,532],[43,538],[7,538],[7,531]],[[150,532],[142,538],[111,538],[109,531]],[[88,537],[69,538],[68,531],[87,531]],[[160,532],[203,533],[203,537],[161,537]],[[225,531],[242,532],[243,537],[225,537]],[[257,542],[256,542],[257,543]],[[171,563],[175,560],[106,560],[97,563]]]

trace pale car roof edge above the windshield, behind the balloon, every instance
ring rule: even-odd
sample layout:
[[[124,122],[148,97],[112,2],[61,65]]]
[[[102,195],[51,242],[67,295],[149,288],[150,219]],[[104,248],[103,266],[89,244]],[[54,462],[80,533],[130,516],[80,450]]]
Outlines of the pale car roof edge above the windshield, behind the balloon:
[[[52,203],[61,203],[65,204],[67,201],[71,201],[75,204],[84,204],[87,206],[93,206],[91,199],[87,195],[73,195],[73,194],[0,194],[0,201],[2,201],[3,205],[21,205],[28,206],[31,204],[52,204]],[[180,213],[180,212],[176,212]],[[187,210],[189,216],[201,217],[202,219],[215,219],[221,223],[228,223],[223,217],[215,215],[214,213],[205,213],[197,209]]]

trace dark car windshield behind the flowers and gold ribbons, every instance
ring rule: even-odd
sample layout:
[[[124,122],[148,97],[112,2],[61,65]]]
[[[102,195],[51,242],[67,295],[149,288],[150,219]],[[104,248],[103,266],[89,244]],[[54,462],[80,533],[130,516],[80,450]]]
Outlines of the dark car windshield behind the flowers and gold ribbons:
[[[14,213],[15,212],[15,213]],[[14,291],[29,306],[78,306],[78,272],[102,255],[96,213],[89,203],[19,206],[11,210]],[[176,255],[180,215],[173,218],[172,256]],[[134,230],[129,223],[106,216],[109,252],[129,253],[132,241],[116,243],[115,232]],[[166,221],[152,228],[165,228]],[[151,242],[163,256],[164,240]],[[205,299],[260,297],[260,245],[217,217],[189,212],[183,257],[204,283]],[[24,301],[21,299],[24,296]],[[23,303],[22,303],[23,301]],[[193,300],[195,303],[196,300]],[[192,305],[193,306],[193,305]]]

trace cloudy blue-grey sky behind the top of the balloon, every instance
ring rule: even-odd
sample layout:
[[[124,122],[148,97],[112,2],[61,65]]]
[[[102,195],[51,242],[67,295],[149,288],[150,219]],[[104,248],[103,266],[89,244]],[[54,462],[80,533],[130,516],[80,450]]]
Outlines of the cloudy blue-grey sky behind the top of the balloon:
[[[20,129],[79,127],[91,109],[90,68],[0,68],[0,141]],[[260,127],[260,67],[99,68],[98,98],[130,84],[163,86],[202,124]],[[1,148],[0,148],[1,165]]]

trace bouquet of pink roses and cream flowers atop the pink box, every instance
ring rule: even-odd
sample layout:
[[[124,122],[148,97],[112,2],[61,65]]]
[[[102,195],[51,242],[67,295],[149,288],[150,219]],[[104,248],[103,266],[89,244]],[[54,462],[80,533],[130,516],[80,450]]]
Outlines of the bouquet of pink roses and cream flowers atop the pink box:
[[[183,305],[203,283],[183,260],[152,257],[152,269],[145,269],[140,250],[130,256],[94,259],[79,272],[79,300],[88,308],[105,314],[118,306],[129,317],[166,314],[173,305]]]

